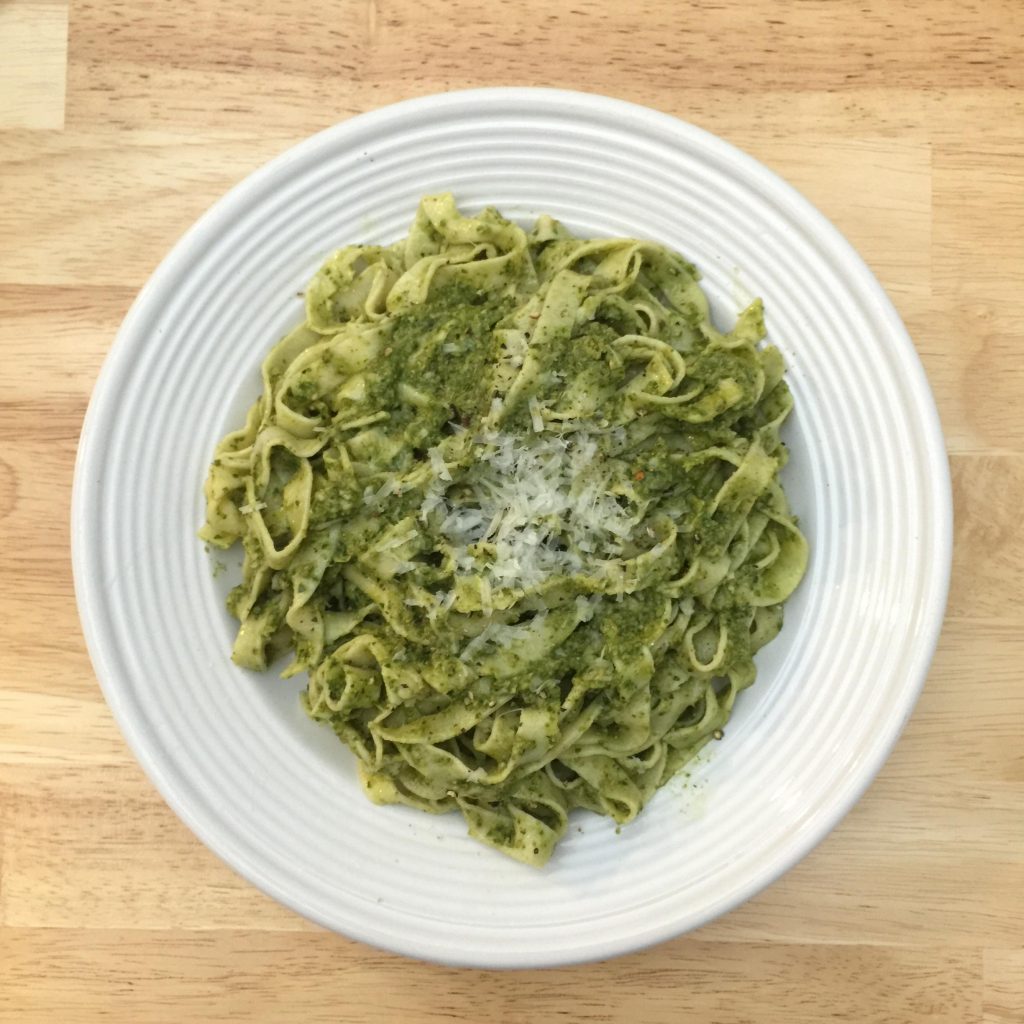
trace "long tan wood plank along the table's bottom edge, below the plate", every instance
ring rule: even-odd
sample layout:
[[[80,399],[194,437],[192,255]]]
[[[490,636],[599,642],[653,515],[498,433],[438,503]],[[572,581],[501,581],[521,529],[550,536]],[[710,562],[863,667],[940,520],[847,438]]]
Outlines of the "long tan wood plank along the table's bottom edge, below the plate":
[[[368,952],[323,932],[0,933],[7,998],[24,1014],[18,1024],[69,1016],[133,1024],[172,1016],[339,1024],[972,1024],[980,1019],[979,959],[931,946],[730,946],[684,938],[607,964],[498,973]],[[13,1018],[0,1016],[5,1020]]]

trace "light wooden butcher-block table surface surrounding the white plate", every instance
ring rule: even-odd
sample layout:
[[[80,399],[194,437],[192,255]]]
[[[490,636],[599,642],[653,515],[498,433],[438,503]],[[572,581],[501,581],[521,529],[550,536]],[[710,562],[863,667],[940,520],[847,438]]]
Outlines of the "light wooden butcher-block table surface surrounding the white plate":
[[[1024,1021],[1021,0],[0,2],[0,1020]],[[854,242],[935,389],[948,616],[910,725],[802,864],[613,963],[487,973],[328,934],[168,810],[103,702],[75,446],[136,290],[230,185],[402,97],[545,84],[743,146]]]

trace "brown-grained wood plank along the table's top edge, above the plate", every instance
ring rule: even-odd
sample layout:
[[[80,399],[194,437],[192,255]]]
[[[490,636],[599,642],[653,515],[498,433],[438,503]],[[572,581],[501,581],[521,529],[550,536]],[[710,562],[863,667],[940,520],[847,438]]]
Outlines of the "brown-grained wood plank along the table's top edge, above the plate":
[[[76,116],[127,124],[138,98],[157,90],[164,101],[151,101],[154,114],[199,126],[211,93],[238,123],[265,105],[344,111],[509,82],[659,95],[699,84],[761,95],[945,83],[1009,90],[1024,81],[1015,0],[967,8],[869,0],[838,10],[830,0],[723,0],[696,10],[675,0],[452,0],[442,17],[417,0],[312,0],[299,9],[272,0],[218,4],[203,17],[188,6],[133,13],[96,4],[78,16]],[[267,74],[272,89],[262,85]]]

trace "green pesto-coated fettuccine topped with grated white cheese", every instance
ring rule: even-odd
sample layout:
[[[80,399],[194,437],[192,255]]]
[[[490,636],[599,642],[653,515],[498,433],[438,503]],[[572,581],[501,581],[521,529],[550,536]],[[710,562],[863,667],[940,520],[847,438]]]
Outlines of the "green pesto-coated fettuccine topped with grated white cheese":
[[[232,657],[285,676],[369,797],[543,864],[632,820],[754,682],[807,544],[760,301],[720,333],[663,246],[426,197],[334,253],[219,444]]]

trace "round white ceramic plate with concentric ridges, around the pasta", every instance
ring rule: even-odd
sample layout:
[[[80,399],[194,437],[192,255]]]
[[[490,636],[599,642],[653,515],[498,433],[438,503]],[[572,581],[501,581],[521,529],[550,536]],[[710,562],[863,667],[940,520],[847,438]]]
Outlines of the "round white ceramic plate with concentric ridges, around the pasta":
[[[786,471],[812,560],[724,742],[616,835],[573,817],[543,870],[456,815],[375,807],[307,721],[301,682],[228,658],[229,580],[196,540],[216,440],[323,256],[404,233],[420,196],[655,239],[728,325],[764,297],[796,396]],[[571,92],[430,96],[354,118],[247,178],[178,243],[124,322],[75,479],[85,635],[125,736],[209,847],[314,921],[452,964],[566,964],[695,928],[778,878],[857,800],[935,647],[950,495],[928,384],[856,253],[751,158],[663,114]],[[233,572],[233,568],[231,570]],[[226,573],[230,575],[231,573]]]

